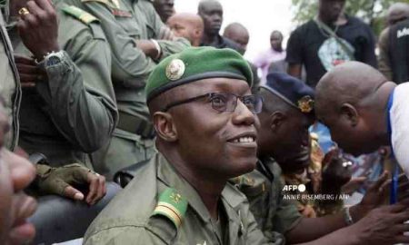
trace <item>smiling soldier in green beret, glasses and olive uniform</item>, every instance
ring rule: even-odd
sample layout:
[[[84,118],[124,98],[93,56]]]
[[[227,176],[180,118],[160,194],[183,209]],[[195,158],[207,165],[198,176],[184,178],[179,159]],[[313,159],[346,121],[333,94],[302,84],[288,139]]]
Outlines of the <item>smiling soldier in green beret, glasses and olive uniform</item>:
[[[158,64],[145,92],[159,153],[96,218],[86,245],[266,242],[227,183],[257,162],[263,100],[252,76],[230,49],[190,48]]]

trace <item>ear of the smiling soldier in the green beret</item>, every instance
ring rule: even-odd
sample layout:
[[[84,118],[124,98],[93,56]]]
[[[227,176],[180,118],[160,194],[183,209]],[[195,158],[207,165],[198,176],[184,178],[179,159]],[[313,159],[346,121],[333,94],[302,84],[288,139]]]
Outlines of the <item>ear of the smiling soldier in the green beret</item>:
[[[177,130],[175,122],[170,113],[156,112],[153,117],[157,137],[165,142],[177,141]]]

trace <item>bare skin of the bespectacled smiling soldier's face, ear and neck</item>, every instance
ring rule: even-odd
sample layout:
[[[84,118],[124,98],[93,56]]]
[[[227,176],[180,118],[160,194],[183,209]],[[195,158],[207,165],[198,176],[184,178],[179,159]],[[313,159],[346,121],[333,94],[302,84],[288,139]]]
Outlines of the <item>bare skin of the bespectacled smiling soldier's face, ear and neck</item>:
[[[256,143],[232,140],[243,133],[256,137],[256,116],[241,101],[234,113],[219,113],[206,99],[175,106],[167,113],[158,112],[175,98],[179,101],[212,92],[251,94],[243,80],[212,78],[171,89],[148,106],[153,114],[158,151],[195,188],[216,220],[227,180],[254,170]]]

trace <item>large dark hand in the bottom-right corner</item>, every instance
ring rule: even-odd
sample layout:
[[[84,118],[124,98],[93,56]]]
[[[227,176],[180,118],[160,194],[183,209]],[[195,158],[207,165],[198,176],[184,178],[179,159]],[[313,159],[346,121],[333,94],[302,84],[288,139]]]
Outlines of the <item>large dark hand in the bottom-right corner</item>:
[[[409,220],[408,207],[409,200],[406,199],[394,205],[377,208],[348,229],[358,238],[358,244],[409,243],[409,236],[404,236],[404,232],[409,231],[409,224],[404,224]]]

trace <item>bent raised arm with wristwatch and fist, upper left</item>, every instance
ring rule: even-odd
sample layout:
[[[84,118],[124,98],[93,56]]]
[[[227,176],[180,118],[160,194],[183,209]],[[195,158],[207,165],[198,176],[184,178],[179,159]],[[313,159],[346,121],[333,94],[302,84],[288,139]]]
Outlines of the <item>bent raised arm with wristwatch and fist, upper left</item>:
[[[80,151],[95,152],[110,139],[117,118],[110,78],[111,57],[104,34],[101,29],[96,33],[99,26],[94,23],[86,25],[90,27],[83,24],[84,28],[71,42],[59,47],[58,26],[80,21],[62,14],[60,17],[65,16],[71,22],[58,25],[49,1],[35,0],[35,3],[37,8],[30,13],[38,20],[25,18],[18,24],[23,43],[39,61],[45,54],[61,54],[55,64],[42,61],[38,65],[43,67],[47,79],[35,84],[36,91],[45,100],[45,112],[65,139]],[[35,14],[41,9],[46,15]]]

